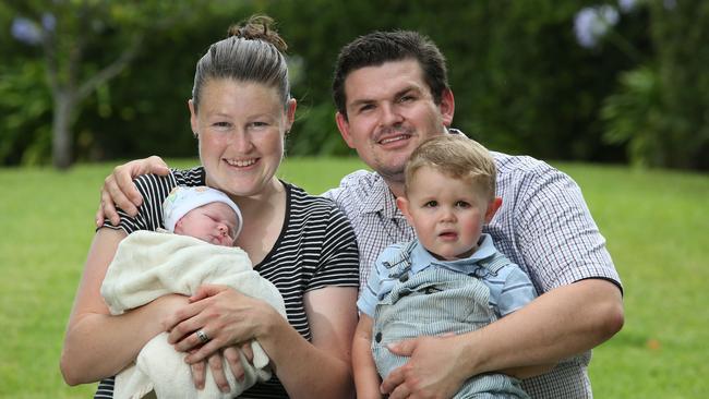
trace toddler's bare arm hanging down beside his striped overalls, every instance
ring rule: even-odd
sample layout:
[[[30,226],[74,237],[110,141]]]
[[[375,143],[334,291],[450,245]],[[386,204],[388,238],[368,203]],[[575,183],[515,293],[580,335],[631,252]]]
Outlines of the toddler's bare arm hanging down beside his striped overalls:
[[[372,356],[372,317],[362,313],[357,324],[354,339],[352,340],[352,368],[354,372],[354,386],[357,397],[361,399],[381,398],[380,375],[376,372]]]

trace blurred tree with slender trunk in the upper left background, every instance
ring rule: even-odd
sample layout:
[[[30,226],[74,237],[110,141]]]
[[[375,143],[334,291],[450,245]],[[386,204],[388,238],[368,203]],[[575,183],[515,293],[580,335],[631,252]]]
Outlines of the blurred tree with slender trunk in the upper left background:
[[[212,10],[200,1],[167,0],[23,0],[7,8],[15,14],[13,36],[39,49],[52,97],[51,158],[59,169],[73,162],[74,123],[87,97],[123,72],[147,37],[190,19],[204,21],[209,13],[196,11]]]

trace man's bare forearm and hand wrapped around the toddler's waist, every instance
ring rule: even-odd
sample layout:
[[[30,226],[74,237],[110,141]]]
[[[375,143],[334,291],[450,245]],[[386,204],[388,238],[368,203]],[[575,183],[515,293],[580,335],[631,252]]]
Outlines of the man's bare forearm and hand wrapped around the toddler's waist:
[[[555,363],[608,340],[622,326],[623,303],[617,286],[602,279],[578,281],[554,289],[479,330],[392,346],[392,352],[411,360],[392,372],[382,388],[392,399],[410,392],[422,392],[422,398],[455,392],[465,378],[458,372],[446,372],[448,368],[465,371],[469,377]],[[442,367],[446,362],[449,366]],[[450,389],[455,384],[456,388]]]

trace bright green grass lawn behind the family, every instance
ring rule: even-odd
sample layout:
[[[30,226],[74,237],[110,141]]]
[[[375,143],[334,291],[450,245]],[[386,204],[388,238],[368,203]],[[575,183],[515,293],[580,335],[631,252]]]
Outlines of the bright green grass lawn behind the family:
[[[706,397],[709,178],[556,166],[582,188],[625,286],[625,327],[593,352],[596,397]],[[94,391],[93,385],[65,386],[58,364],[98,190],[111,168],[0,169],[0,398],[87,398]],[[281,177],[320,193],[358,168],[356,159],[289,159]]]

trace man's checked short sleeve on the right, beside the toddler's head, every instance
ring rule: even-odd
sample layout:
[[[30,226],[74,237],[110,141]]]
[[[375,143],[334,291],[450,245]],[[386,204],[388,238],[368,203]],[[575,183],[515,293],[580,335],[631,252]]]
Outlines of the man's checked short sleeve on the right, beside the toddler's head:
[[[514,177],[516,201],[507,215],[513,239],[505,240],[502,246],[507,247],[501,251],[514,253],[513,259],[529,274],[539,292],[588,278],[608,279],[622,288],[605,239],[579,186],[542,161],[515,158],[531,165]],[[512,177],[505,174],[503,178]],[[509,194],[503,194],[503,203],[509,202]]]

